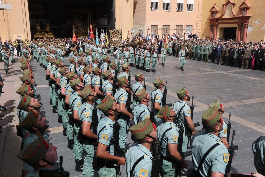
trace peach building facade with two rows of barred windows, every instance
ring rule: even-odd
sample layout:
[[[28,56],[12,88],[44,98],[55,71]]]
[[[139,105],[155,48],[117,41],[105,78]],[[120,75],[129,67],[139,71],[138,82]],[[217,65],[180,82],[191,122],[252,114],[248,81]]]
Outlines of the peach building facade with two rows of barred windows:
[[[202,0],[135,0],[134,31],[148,34],[201,33]]]

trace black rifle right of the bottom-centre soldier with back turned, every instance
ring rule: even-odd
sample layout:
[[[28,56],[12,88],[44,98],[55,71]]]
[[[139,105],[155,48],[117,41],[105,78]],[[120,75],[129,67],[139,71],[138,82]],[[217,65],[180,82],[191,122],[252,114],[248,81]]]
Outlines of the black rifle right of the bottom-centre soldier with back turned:
[[[151,172],[152,177],[158,177],[159,176],[159,170],[162,166],[162,160],[161,160],[162,157],[161,157],[161,155],[159,153],[159,149],[158,149],[158,144],[159,144],[158,139],[159,139],[159,137],[156,138],[156,145],[153,148],[154,154],[153,154],[153,160],[152,160],[152,163],[153,163],[152,172]]]

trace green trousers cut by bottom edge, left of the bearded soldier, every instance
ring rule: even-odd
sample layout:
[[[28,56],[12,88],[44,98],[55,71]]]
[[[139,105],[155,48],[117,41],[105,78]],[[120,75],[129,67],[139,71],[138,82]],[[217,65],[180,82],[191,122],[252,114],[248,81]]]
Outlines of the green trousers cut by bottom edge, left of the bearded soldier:
[[[85,150],[83,175],[85,177],[94,176],[94,169],[92,167],[92,162],[93,162],[93,157],[94,157],[94,147],[93,145],[83,145],[83,148]]]

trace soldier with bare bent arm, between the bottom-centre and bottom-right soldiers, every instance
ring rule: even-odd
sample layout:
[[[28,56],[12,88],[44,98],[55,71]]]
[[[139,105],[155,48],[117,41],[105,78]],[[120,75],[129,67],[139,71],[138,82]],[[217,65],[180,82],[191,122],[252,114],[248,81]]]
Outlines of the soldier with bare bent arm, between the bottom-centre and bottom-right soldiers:
[[[173,109],[165,105],[158,111],[157,118],[163,121],[157,127],[158,140],[161,142],[160,150],[163,154],[163,165],[160,175],[178,176],[180,168],[187,168],[188,164],[177,150],[179,128],[174,123],[176,114]],[[175,162],[175,165],[172,162]]]

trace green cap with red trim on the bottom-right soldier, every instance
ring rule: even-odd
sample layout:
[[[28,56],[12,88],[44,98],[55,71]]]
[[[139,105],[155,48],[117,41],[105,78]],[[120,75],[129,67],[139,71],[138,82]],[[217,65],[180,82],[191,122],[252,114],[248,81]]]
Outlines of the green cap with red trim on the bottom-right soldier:
[[[219,111],[216,106],[210,107],[202,114],[202,124],[204,126],[211,126],[221,119]]]

